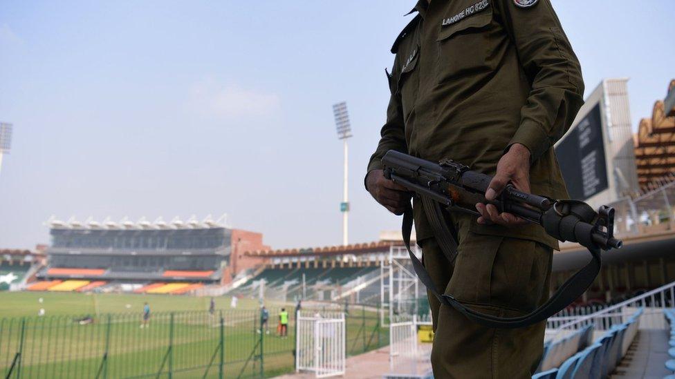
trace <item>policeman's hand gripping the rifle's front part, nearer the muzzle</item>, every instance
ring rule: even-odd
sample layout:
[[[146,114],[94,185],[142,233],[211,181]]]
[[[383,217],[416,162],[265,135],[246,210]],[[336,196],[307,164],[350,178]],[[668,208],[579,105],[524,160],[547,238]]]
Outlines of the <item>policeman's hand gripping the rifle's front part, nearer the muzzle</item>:
[[[486,199],[494,200],[511,182],[515,188],[525,193],[530,193],[530,150],[521,144],[513,144],[506,154],[499,159],[497,174],[490,182]],[[481,214],[478,217],[479,224],[500,224],[503,226],[517,226],[526,224],[526,221],[511,213],[499,213],[493,204],[476,204],[476,209]]]

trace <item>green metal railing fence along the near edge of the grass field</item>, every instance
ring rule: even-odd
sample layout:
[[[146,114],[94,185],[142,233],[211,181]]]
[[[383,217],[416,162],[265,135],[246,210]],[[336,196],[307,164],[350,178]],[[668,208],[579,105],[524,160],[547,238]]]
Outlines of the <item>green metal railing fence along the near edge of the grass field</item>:
[[[379,308],[344,310],[348,355],[387,344]],[[137,313],[0,318],[0,375],[268,378],[295,366],[295,316],[288,335],[279,336],[279,309],[269,311],[262,325],[259,310],[153,313],[147,324]]]

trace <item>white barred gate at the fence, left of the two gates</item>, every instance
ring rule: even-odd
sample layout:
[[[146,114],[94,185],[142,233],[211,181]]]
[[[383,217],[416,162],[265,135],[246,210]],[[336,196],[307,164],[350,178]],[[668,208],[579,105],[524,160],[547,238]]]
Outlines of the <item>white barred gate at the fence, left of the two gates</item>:
[[[344,375],[344,313],[297,317],[295,371],[312,371],[317,378]]]

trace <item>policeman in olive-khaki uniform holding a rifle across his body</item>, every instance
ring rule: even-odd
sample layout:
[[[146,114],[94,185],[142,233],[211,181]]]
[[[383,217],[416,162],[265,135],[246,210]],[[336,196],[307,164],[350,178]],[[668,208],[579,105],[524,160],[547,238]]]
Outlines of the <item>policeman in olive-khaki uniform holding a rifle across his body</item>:
[[[508,182],[566,198],[553,144],[583,104],[577,58],[549,0],[427,0],[403,29],[389,79],[387,122],[365,178],[392,213],[410,195],[385,179],[380,159],[394,149],[451,158],[494,175],[488,200]],[[450,262],[414,199],[417,243],[438,289],[481,313],[515,317],[548,298],[557,241],[514,215],[476,204],[481,217],[448,213],[456,241]],[[545,323],[481,327],[429,295],[436,378],[528,378],[544,347]]]

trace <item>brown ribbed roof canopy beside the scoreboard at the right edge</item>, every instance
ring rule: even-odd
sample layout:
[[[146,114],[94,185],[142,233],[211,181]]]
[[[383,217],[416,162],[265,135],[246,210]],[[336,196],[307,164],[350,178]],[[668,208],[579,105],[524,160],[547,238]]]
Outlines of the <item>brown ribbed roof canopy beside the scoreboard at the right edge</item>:
[[[675,79],[664,100],[654,103],[651,118],[640,120],[634,138],[638,181],[642,188],[675,178]]]

